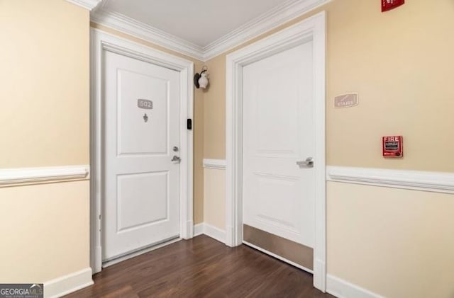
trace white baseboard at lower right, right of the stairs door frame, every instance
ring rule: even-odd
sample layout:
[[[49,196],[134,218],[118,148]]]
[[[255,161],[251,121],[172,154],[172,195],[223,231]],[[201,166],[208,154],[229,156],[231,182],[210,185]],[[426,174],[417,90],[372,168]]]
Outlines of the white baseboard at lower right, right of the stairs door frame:
[[[379,294],[370,292],[350,282],[341,280],[333,275],[326,275],[326,292],[338,298],[382,298]]]

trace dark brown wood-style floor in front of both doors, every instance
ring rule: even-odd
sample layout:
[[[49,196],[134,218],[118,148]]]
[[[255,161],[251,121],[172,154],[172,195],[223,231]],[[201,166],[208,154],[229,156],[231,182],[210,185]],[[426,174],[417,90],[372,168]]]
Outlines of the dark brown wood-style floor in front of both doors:
[[[66,297],[333,297],[312,275],[248,246],[208,236],[178,241],[111,265]]]

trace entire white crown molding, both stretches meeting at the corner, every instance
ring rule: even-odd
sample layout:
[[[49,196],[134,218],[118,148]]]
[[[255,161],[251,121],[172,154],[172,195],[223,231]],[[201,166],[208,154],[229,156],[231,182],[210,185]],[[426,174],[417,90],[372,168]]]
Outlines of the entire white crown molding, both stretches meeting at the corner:
[[[99,0],[67,0],[67,1],[99,1]],[[233,47],[257,38],[259,35],[276,28],[283,23],[292,21],[294,18],[301,16],[331,0],[287,0],[283,4],[272,8],[270,11],[263,13],[258,18],[254,18],[240,28],[233,30],[231,33],[224,35],[222,38],[211,42],[205,47],[194,45],[192,42],[178,38],[160,29],[145,23],[135,21],[133,18],[124,16],[121,13],[106,11],[106,3],[109,0],[102,1],[96,11],[92,11],[91,19],[94,23],[105,25],[128,35],[135,36],[153,42],[156,45],[165,47],[169,50],[179,52],[202,62],[216,57]]]

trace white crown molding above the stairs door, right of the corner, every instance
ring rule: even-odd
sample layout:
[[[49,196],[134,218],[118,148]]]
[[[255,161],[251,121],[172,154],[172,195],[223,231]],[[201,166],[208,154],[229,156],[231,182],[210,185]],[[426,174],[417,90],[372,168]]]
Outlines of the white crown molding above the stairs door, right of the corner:
[[[245,23],[240,28],[211,42],[203,48],[204,61],[222,54],[233,47],[257,38],[258,36],[277,28],[279,25],[292,21],[315,8],[327,4],[331,0],[288,0],[272,8],[261,16]]]

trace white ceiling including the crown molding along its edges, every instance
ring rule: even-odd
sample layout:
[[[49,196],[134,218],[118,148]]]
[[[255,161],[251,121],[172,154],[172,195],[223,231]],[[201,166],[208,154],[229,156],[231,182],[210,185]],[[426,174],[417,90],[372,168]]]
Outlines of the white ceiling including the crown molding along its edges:
[[[67,1],[94,8],[94,23],[205,62],[331,0]]]

